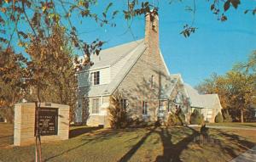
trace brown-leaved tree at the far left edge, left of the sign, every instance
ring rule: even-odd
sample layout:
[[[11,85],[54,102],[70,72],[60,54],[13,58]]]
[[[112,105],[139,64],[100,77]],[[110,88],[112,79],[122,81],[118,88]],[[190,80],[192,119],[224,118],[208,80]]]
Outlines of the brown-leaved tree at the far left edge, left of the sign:
[[[26,59],[11,48],[0,51],[0,115],[9,122],[14,120],[15,103],[24,97],[25,63]]]

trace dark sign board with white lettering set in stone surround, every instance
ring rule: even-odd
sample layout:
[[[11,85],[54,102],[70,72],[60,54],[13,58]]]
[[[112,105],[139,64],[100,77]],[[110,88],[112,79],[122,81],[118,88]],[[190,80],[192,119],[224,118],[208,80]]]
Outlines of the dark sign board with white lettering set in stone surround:
[[[40,108],[38,109],[38,120],[36,116],[35,134],[38,121],[38,128],[41,136],[51,136],[58,134],[58,109]]]

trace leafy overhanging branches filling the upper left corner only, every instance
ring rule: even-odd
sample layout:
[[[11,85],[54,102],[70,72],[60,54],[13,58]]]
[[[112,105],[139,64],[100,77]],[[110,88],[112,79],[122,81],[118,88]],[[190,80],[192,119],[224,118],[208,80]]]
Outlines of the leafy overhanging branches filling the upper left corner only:
[[[27,47],[30,42],[46,42],[45,38],[52,33],[49,29],[55,25],[65,28],[66,35],[72,40],[73,46],[84,51],[84,56],[90,58],[90,53],[99,53],[103,42],[98,39],[93,43],[79,39],[79,32],[73,25],[72,18],[95,20],[100,26],[115,26],[113,19],[118,11],[111,11],[113,3],[102,12],[102,15],[92,12],[97,4],[96,0],[66,1],[66,0],[5,0],[0,1],[0,42],[1,48],[9,48],[18,38],[20,47]],[[90,61],[84,63],[88,64]]]

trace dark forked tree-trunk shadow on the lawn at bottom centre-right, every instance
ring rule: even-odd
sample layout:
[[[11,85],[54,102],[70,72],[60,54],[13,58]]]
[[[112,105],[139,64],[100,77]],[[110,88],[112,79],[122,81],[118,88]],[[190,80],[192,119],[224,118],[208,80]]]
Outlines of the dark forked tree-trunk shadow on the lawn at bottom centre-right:
[[[188,127],[189,128],[189,127]],[[167,128],[160,128],[161,131],[159,132],[164,153],[161,156],[156,158],[156,161],[182,161],[179,159],[180,154],[184,149],[186,149],[190,142],[193,142],[195,137],[199,135],[198,131],[195,131],[192,128],[189,128],[192,131],[192,134],[188,137],[183,138],[181,141],[177,142],[176,144],[172,143],[172,135],[168,131]]]

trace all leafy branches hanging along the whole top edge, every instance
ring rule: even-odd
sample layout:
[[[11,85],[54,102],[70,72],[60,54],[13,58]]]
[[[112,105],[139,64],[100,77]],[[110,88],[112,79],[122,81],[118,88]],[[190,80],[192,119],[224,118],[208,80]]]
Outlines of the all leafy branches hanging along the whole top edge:
[[[182,0],[169,0],[172,2],[188,3]],[[218,15],[218,20],[225,21],[227,12],[231,6],[238,8],[241,0],[208,0],[211,3],[210,9],[213,14]],[[17,43],[20,47],[27,47],[30,42],[45,42],[45,38],[51,35],[49,29],[58,25],[65,28],[65,33],[72,40],[73,47],[77,48],[84,54],[84,63],[90,64],[90,54],[99,53],[103,45],[103,41],[96,39],[94,42],[85,42],[79,36],[77,26],[74,25],[73,18],[79,18],[81,23],[84,20],[95,20],[96,24],[116,26],[115,17],[122,13],[124,19],[129,21],[134,17],[150,14],[151,20],[154,15],[158,14],[158,3],[151,1],[127,0],[126,9],[114,9],[114,2],[105,4],[105,8],[100,13],[94,13],[94,8],[101,3],[97,0],[4,0],[0,1],[0,48],[9,48]],[[167,3],[167,4],[169,4]],[[183,31],[180,32],[185,37],[195,32],[195,14],[196,3],[198,1],[190,1],[189,6],[185,10],[192,12],[193,20],[191,23],[183,25]],[[102,3],[101,3],[102,4]],[[191,6],[191,7],[190,7]],[[256,8],[248,8],[245,14],[252,12],[256,14]],[[18,38],[16,41],[16,38]],[[76,62],[79,62],[77,60]]]

